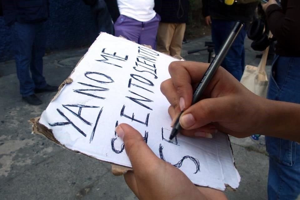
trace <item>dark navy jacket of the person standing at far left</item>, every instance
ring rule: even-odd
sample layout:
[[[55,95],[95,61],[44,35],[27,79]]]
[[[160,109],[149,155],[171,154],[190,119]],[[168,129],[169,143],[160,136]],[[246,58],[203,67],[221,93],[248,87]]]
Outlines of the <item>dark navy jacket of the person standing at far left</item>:
[[[5,0],[3,16],[6,25],[14,22],[35,23],[47,20],[49,16],[48,0]]]

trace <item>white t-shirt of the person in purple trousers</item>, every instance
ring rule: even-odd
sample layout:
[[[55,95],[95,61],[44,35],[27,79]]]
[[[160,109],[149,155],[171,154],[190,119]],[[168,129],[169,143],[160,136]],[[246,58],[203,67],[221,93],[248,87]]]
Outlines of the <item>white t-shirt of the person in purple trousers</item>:
[[[154,0],[117,0],[121,15],[140,22],[147,22],[155,17]]]

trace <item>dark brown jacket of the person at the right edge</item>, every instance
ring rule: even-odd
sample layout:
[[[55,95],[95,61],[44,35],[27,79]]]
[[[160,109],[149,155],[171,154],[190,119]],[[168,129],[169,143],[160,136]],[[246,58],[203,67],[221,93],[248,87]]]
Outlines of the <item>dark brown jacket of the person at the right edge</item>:
[[[281,5],[272,4],[266,10],[268,27],[277,39],[275,52],[300,57],[300,0],[282,0]]]

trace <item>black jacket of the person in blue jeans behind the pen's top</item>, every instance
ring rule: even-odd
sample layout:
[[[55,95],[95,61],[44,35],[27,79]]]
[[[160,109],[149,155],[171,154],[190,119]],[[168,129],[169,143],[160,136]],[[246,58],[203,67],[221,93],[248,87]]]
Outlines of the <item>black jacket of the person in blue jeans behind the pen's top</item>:
[[[202,0],[202,4],[202,14],[204,17],[211,16],[212,19],[251,22],[258,2],[247,4],[235,3],[229,6],[219,0]]]

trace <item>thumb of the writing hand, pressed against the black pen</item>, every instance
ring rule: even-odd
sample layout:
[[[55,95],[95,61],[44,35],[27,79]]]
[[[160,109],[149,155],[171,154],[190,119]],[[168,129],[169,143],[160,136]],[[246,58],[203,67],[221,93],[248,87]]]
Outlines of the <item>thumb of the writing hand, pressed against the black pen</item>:
[[[233,96],[203,99],[183,112],[180,125],[184,129],[192,130],[209,123],[222,122],[228,116],[233,119],[238,114],[235,113],[236,104]]]

